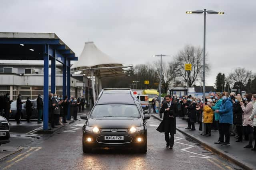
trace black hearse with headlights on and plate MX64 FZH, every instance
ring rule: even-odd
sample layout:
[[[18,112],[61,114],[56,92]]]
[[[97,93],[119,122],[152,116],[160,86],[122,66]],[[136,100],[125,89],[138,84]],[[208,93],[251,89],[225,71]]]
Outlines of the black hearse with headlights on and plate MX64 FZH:
[[[81,115],[87,120],[82,129],[83,152],[118,147],[146,153],[149,118],[132,90],[103,89],[88,117]]]

